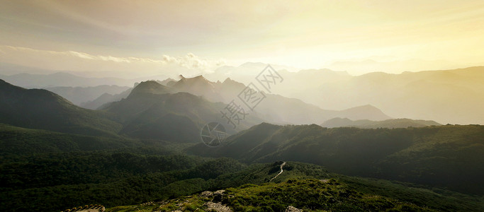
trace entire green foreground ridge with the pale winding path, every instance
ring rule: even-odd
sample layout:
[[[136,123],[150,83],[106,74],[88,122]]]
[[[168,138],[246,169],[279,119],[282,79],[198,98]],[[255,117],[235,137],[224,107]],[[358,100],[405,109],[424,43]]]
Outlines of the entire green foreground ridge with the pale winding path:
[[[287,206],[330,211],[482,211],[484,199],[425,189],[415,184],[347,177],[317,165],[288,162],[273,182],[280,163],[251,165],[206,181],[211,191],[225,189],[220,203],[235,211],[284,211]],[[320,180],[324,179],[324,180]],[[202,181],[201,181],[202,182]],[[248,182],[243,183],[243,182]],[[201,193],[150,204],[115,206],[107,211],[210,211]],[[216,202],[216,201],[215,201]]]

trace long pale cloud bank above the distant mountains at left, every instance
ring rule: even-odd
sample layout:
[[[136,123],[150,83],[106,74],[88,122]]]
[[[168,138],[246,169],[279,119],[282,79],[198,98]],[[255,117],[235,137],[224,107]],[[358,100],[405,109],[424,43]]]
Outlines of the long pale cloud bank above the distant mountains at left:
[[[225,65],[225,59],[205,59],[193,53],[182,57],[162,55],[159,59],[116,57],[77,51],[52,51],[0,45],[0,61],[42,69],[69,71],[119,71],[153,75],[203,74]],[[179,72],[173,73],[171,72]]]

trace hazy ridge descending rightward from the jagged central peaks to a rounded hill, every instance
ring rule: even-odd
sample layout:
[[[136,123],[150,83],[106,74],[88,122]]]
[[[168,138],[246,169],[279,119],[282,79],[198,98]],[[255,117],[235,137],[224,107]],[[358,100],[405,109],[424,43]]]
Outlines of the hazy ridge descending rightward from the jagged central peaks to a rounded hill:
[[[203,76],[197,76],[194,78],[182,78],[172,88],[176,92],[188,92],[193,95],[203,96],[212,102],[229,103],[232,100],[238,100],[237,95],[240,95],[245,85],[231,78],[225,79],[223,83],[220,81],[214,83]],[[390,119],[381,110],[371,105],[347,110],[322,110],[320,107],[307,104],[296,98],[286,98],[270,93],[265,95],[266,98],[255,107],[254,111],[262,115],[261,118],[274,123],[315,124],[334,117],[371,120]]]

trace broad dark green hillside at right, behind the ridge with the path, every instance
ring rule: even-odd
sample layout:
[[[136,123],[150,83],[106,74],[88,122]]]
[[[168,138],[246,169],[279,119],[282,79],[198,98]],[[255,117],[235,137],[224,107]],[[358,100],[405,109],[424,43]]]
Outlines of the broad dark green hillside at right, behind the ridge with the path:
[[[219,148],[188,153],[246,163],[293,160],[345,175],[397,179],[484,194],[484,126],[357,129],[259,124]]]

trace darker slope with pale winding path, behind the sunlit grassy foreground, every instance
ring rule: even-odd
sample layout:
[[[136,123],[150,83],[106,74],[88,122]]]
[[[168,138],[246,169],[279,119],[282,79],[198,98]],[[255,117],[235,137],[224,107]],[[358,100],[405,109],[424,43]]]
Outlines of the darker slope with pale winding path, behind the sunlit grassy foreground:
[[[220,175],[215,179],[218,187],[223,189],[239,187],[242,184],[264,184],[277,175],[282,162],[271,164],[254,164],[240,172]],[[286,182],[288,179],[337,179],[347,187],[365,194],[385,196],[398,199],[421,207],[428,207],[437,211],[482,211],[484,210],[483,196],[470,196],[449,190],[426,187],[384,179],[365,177],[349,177],[328,172],[324,167],[308,163],[289,161],[283,167],[283,173],[272,182]]]

